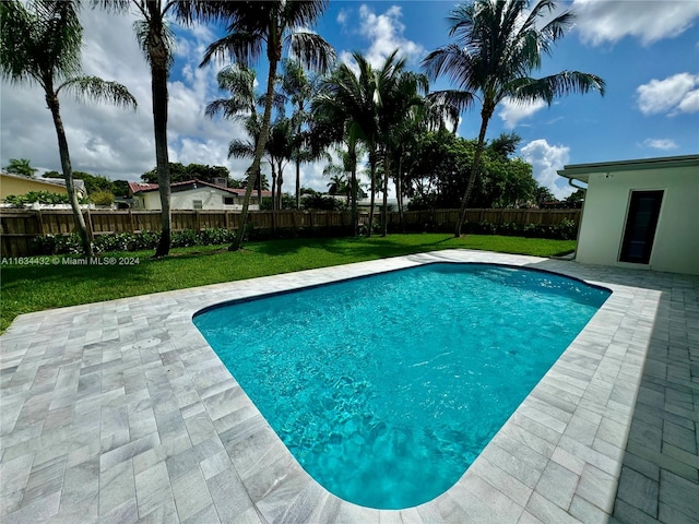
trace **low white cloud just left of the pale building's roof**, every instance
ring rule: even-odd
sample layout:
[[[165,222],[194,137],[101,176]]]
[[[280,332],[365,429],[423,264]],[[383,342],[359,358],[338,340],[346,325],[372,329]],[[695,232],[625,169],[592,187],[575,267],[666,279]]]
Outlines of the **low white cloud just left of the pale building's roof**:
[[[556,172],[570,162],[570,147],[549,145],[545,139],[538,139],[523,146],[520,152],[522,159],[532,165],[534,178],[540,186],[548,188],[557,199],[565,199],[573,192],[568,182]]]

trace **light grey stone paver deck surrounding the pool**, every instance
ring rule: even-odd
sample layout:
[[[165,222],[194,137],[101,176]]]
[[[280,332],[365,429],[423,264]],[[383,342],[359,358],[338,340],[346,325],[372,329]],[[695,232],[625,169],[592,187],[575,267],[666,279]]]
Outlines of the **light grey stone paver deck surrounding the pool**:
[[[437,260],[613,295],[457,485],[360,508],[300,468],[191,318]],[[0,337],[0,521],[699,523],[698,294],[699,277],[449,250],[22,315]]]

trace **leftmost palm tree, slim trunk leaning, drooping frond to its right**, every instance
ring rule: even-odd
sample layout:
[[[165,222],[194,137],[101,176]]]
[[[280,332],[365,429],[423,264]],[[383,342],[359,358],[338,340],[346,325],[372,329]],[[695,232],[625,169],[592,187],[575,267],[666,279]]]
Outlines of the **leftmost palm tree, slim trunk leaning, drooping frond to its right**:
[[[4,80],[17,84],[36,83],[44,90],[58,135],[61,168],[75,227],[83,252],[90,255],[93,252],[92,242],[75,193],[58,96],[61,91],[72,92],[78,97],[134,109],[137,102],[119,83],[80,75],[83,28],[78,15],[79,9],[78,1],[37,0],[26,4],[19,0],[0,2],[0,68]]]

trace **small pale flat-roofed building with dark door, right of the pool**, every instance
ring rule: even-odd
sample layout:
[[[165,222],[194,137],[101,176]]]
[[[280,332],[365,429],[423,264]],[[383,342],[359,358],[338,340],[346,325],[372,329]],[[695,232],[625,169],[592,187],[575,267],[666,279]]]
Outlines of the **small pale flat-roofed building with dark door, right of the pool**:
[[[576,260],[699,274],[699,155],[577,164],[588,184]]]

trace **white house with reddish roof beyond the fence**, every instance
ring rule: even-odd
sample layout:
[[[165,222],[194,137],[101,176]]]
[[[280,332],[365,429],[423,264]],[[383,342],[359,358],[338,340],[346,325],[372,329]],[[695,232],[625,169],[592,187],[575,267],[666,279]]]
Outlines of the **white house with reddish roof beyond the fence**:
[[[159,210],[161,195],[157,183],[129,182],[134,210]],[[225,179],[220,183],[202,180],[188,180],[170,184],[170,209],[173,210],[210,210],[239,211],[242,210],[245,189],[233,189],[225,186]],[[262,198],[271,198],[270,191],[262,191]],[[251,211],[260,209],[258,192],[252,191],[250,199]]]

